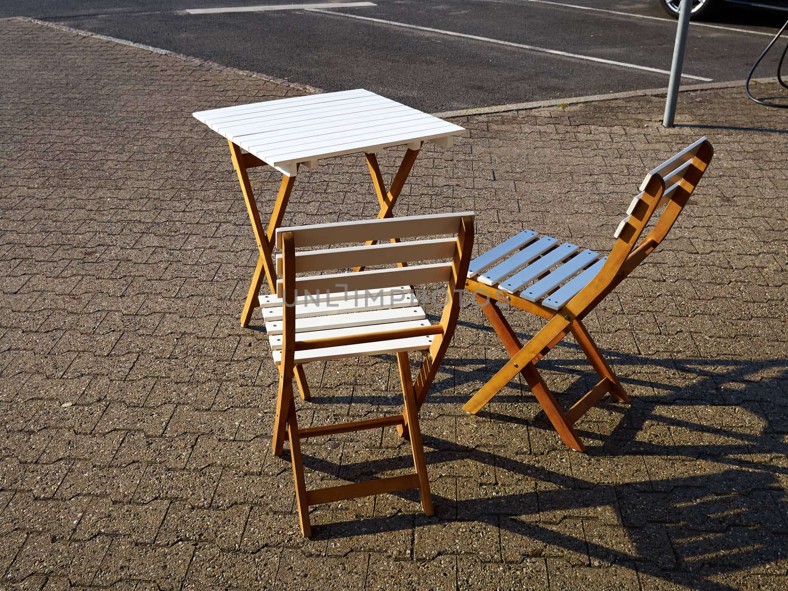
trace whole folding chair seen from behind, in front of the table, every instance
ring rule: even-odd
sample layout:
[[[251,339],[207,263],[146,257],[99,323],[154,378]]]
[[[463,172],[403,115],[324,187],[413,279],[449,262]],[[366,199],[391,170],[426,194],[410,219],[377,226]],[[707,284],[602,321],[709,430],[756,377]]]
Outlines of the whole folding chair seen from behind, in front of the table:
[[[424,512],[433,514],[418,409],[454,333],[473,237],[472,213],[277,230],[277,248],[281,249],[277,273],[282,278],[277,280],[277,296],[261,297],[273,359],[280,371],[273,452],[281,455],[288,437],[305,536],[311,531],[310,505],[335,500],[418,488]],[[399,242],[407,238],[419,240]],[[348,243],[360,245],[326,247]],[[448,289],[440,322],[430,325],[410,286],[435,283],[446,284]],[[411,380],[408,351],[425,353],[415,381]],[[386,353],[396,353],[400,367],[403,414],[299,428],[292,387],[293,377],[298,377],[296,368],[307,362]],[[306,388],[301,392],[303,398],[310,396]],[[307,490],[299,440],[385,426],[397,426],[400,435],[410,437],[414,474]]]

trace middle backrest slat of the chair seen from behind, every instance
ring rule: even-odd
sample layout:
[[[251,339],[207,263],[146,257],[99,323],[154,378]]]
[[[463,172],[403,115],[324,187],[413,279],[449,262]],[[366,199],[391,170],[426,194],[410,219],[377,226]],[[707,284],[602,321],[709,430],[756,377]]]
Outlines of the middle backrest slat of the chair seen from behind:
[[[297,252],[296,273],[449,258],[456,245],[455,238],[436,238]],[[282,255],[277,255],[277,273],[282,273]]]

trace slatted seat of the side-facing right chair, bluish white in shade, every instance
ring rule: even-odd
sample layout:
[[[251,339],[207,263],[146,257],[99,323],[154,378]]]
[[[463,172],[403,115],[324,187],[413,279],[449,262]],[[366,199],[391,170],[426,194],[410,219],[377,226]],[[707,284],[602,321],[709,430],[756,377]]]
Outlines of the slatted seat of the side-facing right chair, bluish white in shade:
[[[474,258],[468,279],[559,310],[589,284],[606,260],[598,252],[523,230]]]

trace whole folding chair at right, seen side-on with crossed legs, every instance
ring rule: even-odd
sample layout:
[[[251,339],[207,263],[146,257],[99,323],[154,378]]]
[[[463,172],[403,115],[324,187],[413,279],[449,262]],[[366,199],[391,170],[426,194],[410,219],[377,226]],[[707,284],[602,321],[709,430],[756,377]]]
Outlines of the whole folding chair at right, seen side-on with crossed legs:
[[[477,413],[518,373],[525,377],[545,414],[570,448],[585,451],[572,427],[602,396],[629,402],[624,388],[594,344],[582,319],[651,253],[686,206],[689,195],[712,160],[714,150],[701,138],[648,173],[615,230],[610,254],[582,250],[550,236],[526,230],[470,262],[466,288],[474,292],[511,360],[463,407]],[[664,206],[653,229],[640,243],[649,218]],[[537,314],[547,324],[523,346],[498,303]],[[536,363],[567,334],[600,377],[599,383],[564,411],[537,371]]]

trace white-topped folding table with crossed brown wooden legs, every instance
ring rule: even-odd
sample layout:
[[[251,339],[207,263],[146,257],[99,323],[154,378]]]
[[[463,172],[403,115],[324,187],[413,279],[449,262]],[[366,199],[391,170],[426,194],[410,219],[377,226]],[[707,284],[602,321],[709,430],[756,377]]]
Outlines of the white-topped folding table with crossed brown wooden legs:
[[[271,292],[275,292],[277,273],[271,254],[273,239],[284,217],[300,165],[314,168],[322,158],[364,152],[381,207],[377,217],[391,217],[392,208],[422,143],[431,141],[441,147],[451,147],[453,136],[465,131],[459,125],[362,88],[193,114],[225,136],[229,143],[232,164],[238,174],[260,251],[241,314],[242,326],[249,324],[252,311],[259,306],[263,273]],[[388,147],[403,145],[407,146],[407,151],[386,191],[375,154]],[[247,169],[262,165],[272,166],[282,173],[279,193],[266,230],[262,228],[247,176]]]

